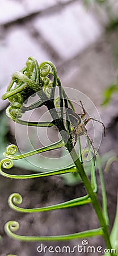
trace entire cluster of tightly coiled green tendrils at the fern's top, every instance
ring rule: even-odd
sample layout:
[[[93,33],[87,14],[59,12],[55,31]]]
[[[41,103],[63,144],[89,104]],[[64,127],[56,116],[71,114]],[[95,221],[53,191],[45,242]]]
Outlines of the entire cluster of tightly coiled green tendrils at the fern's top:
[[[2,96],[3,100],[8,98],[11,102],[11,108],[6,110],[6,114],[15,121],[15,119],[21,118],[27,110],[39,108],[43,105],[42,102],[31,105],[31,108],[22,108],[22,106],[30,96],[39,92],[41,88],[46,96],[54,98],[54,88],[57,84],[57,70],[53,63],[45,61],[39,66],[34,57],[28,57],[26,67],[12,75],[7,92]]]

